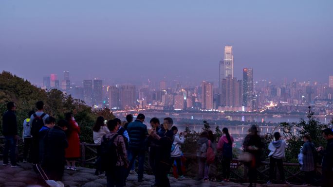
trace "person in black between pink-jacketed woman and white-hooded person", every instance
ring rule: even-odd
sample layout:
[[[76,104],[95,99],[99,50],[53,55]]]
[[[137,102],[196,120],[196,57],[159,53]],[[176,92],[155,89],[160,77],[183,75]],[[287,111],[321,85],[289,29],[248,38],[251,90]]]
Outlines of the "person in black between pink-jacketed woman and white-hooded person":
[[[258,132],[259,131],[257,126],[252,125],[249,130],[249,134],[245,136],[243,143],[244,152],[249,153],[252,157],[252,160],[250,162],[245,163],[245,166],[247,166],[249,169],[249,187],[253,187],[253,184],[257,183],[257,168],[260,166],[260,154],[263,143]]]

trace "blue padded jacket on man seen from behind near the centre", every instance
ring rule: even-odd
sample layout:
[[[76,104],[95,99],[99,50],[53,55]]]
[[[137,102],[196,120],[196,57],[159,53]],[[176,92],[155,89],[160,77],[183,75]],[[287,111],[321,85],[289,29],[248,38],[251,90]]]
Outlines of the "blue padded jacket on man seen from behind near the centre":
[[[147,126],[140,120],[135,120],[129,123],[127,132],[129,134],[129,149],[145,150],[145,139],[148,136]]]

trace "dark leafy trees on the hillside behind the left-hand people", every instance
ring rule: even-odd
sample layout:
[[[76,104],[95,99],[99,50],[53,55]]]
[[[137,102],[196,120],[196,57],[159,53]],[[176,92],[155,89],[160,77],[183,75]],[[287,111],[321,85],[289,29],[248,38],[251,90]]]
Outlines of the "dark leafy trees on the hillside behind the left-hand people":
[[[76,122],[81,128],[81,142],[92,143],[92,126],[98,116],[105,119],[113,119],[110,109],[92,110],[81,100],[74,99],[71,95],[65,95],[61,91],[52,89],[46,92],[43,89],[31,85],[30,82],[12,75],[10,72],[0,73],[0,113],[3,114],[6,104],[13,101],[17,104],[17,120],[19,134],[22,133],[23,120],[28,118],[27,114],[35,110],[37,101],[44,101],[44,112],[56,119],[64,119],[64,114],[73,112]],[[2,126],[2,120],[0,125]],[[0,128],[0,133],[2,128]]]

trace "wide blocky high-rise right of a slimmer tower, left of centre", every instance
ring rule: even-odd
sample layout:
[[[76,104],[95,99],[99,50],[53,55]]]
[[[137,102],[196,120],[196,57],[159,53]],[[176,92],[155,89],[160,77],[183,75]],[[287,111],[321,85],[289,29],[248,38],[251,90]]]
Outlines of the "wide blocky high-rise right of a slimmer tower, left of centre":
[[[119,90],[119,97],[120,97],[121,109],[128,109],[135,107],[136,86],[121,85]]]

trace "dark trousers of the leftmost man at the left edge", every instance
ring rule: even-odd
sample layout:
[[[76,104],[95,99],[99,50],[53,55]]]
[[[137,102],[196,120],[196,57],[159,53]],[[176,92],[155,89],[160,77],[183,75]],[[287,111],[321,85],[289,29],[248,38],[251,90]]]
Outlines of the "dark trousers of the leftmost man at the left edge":
[[[8,153],[10,151],[10,163],[16,165],[16,139],[15,136],[5,136],[5,147],[3,150],[3,163],[8,163]]]

